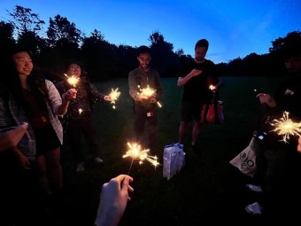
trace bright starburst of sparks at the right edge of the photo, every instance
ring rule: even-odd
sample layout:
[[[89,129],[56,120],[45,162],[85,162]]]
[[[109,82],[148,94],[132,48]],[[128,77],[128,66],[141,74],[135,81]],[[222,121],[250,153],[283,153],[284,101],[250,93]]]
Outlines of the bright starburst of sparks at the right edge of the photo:
[[[296,123],[289,119],[289,113],[284,112],[280,120],[274,120],[271,125],[275,127],[272,131],[277,132],[278,135],[283,136],[282,141],[289,143],[290,136],[301,136],[301,122]]]

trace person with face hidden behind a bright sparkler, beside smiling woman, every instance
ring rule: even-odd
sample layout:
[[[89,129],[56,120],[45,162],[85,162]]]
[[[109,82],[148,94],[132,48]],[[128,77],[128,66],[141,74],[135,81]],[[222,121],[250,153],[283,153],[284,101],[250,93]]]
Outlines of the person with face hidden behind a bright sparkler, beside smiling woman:
[[[76,171],[84,171],[84,155],[81,151],[81,135],[89,142],[89,152],[96,163],[102,163],[96,141],[96,129],[92,120],[92,104],[96,101],[108,101],[109,95],[101,94],[96,87],[89,82],[80,63],[72,61],[67,68],[66,80],[56,83],[58,90],[64,92],[67,89],[77,90],[76,100],[72,101],[68,108],[68,121],[66,131],[71,142],[71,147],[76,160]]]

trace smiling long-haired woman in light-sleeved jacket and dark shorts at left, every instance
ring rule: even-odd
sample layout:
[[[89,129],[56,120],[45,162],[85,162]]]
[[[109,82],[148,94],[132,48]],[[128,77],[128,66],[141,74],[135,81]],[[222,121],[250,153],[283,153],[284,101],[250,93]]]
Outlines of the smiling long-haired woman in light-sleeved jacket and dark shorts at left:
[[[60,165],[63,129],[58,116],[66,113],[70,100],[76,97],[76,90],[68,90],[62,99],[54,84],[38,72],[31,52],[23,46],[12,46],[5,60],[1,81],[0,128],[20,129],[21,126],[24,127],[24,136],[19,136],[20,141],[6,150],[12,152],[4,152],[0,158],[1,168],[6,168],[5,175],[0,176],[5,184],[1,189],[10,188],[0,194],[5,196],[1,200],[8,200],[5,209],[13,206],[13,214],[29,214],[24,211],[32,210],[28,203],[34,202],[36,196],[47,200],[63,188]],[[39,184],[37,190],[35,183]],[[5,201],[1,205],[3,203]],[[22,213],[16,209],[22,210]]]

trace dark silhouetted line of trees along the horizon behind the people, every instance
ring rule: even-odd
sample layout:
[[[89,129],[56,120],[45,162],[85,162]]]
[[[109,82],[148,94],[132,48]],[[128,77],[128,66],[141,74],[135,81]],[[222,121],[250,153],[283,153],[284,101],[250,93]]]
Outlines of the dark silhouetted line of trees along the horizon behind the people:
[[[12,12],[7,12],[11,19],[8,22],[0,20],[0,51],[9,51],[15,43],[26,46],[33,52],[35,64],[42,68],[50,80],[61,80],[68,62],[73,60],[81,63],[94,82],[127,77],[129,71],[138,66],[138,47],[112,44],[96,29],[89,36],[85,35],[73,22],[56,15],[50,18],[46,33],[41,35],[46,23],[31,9],[16,5]],[[271,47],[266,54],[251,52],[244,58],[216,64],[220,75],[283,75],[285,70],[282,46],[289,42],[289,35],[292,34],[301,35],[300,31],[292,31],[285,37],[271,41]],[[174,44],[166,42],[164,35],[158,31],[153,31],[148,40],[151,66],[162,77],[184,75],[187,62],[193,58],[191,55],[185,55],[182,49],[174,51]]]

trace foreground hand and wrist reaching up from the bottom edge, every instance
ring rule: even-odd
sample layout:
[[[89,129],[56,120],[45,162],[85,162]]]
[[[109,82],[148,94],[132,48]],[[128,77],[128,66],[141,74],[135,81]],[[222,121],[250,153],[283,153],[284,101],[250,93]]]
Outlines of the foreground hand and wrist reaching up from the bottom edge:
[[[127,207],[127,200],[130,200],[128,192],[134,191],[129,185],[132,182],[132,177],[118,175],[109,183],[104,183],[96,215],[96,226],[118,225]]]

